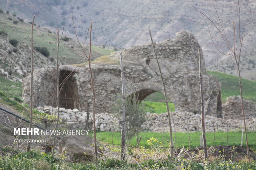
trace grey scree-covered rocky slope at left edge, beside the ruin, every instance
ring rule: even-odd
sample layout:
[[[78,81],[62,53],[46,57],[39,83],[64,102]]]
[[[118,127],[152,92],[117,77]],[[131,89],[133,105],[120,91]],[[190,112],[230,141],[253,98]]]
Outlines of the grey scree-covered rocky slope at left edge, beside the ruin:
[[[36,50],[33,52],[35,69],[54,65],[54,59],[51,60]],[[14,45],[14,40],[0,35],[0,76],[21,82],[30,69],[31,47],[22,42]]]

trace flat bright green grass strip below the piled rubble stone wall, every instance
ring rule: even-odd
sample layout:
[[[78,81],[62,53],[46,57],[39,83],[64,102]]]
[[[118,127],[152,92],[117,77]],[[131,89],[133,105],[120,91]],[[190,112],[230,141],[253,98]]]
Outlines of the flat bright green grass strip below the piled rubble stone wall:
[[[121,143],[121,134],[117,132],[97,132],[97,139],[106,142],[108,144],[120,144]],[[149,148],[149,145],[147,144],[147,140],[149,140],[151,137],[154,137],[159,140],[159,142],[162,142],[165,147],[168,146],[169,141],[169,133],[156,133],[156,132],[142,132],[140,133],[142,136],[142,140],[140,142],[140,146],[145,146],[146,148]],[[190,133],[190,141],[191,141],[191,148],[195,148],[200,146],[200,132]],[[228,145],[232,146],[239,146],[241,144],[241,132],[229,132],[228,134]],[[214,133],[206,133],[206,140],[207,140],[207,146],[211,145],[227,145],[227,132],[216,132],[216,139],[213,143]],[[248,141],[249,141],[249,147],[250,149],[253,149],[256,151],[256,132],[248,132]],[[176,133],[176,139],[175,134],[173,133],[173,140],[175,147],[189,147],[189,141],[188,141],[188,133]],[[246,144],[245,137],[243,144]],[[136,139],[133,137],[131,140],[131,145],[133,147],[136,146]],[[246,147],[246,146],[244,146]]]

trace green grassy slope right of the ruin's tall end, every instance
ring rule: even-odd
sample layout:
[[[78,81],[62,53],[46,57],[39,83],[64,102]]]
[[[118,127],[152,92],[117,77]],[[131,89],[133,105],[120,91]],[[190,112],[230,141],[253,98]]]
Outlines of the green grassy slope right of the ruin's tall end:
[[[240,95],[239,78],[237,76],[228,75],[220,72],[207,71],[209,75],[215,76],[221,83],[221,97],[223,102],[232,96]],[[256,102],[256,83],[247,79],[242,79],[244,98]]]

